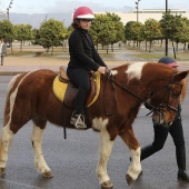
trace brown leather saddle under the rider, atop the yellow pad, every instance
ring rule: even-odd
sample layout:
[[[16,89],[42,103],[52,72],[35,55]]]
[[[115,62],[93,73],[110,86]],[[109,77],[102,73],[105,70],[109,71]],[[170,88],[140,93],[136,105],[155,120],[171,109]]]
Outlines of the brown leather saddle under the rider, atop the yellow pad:
[[[77,96],[78,88],[71,82],[69,77],[67,76],[67,68],[60,67],[60,74],[59,74],[59,80],[61,82],[68,83],[66,94],[64,94],[64,103],[67,107],[72,108],[73,107],[73,100]],[[96,74],[93,71],[89,72],[89,78],[90,78],[90,92],[87,97],[87,102],[86,106],[88,106],[94,98],[97,93],[97,83],[96,83]]]

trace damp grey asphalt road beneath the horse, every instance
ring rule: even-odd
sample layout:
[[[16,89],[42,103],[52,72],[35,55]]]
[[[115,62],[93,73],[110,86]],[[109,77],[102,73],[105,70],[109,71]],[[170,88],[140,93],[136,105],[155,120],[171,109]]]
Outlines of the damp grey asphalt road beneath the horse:
[[[0,76],[0,125],[2,126],[7,83],[11,77]],[[189,89],[188,89],[189,90]],[[24,109],[23,109],[24,111]],[[148,111],[140,109],[133,130],[141,147],[152,142],[153,129]],[[187,169],[189,170],[189,94],[182,105],[182,122],[187,148]],[[43,155],[53,172],[53,178],[42,178],[34,168],[30,141],[32,123],[27,123],[16,136],[9,150],[6,176],[0,176],[0,189],[98,189],[96,176],[98,162],[99,135],[92,130],[67,130],[48,123],[43,136]],[[175,146],[168,137],[165,148],[142,161],[143,175],[128,186],[125,175],[129,167],[129,150],[117,138],[108,172],[113,189],[189,189],[189,183],[178,181]]]

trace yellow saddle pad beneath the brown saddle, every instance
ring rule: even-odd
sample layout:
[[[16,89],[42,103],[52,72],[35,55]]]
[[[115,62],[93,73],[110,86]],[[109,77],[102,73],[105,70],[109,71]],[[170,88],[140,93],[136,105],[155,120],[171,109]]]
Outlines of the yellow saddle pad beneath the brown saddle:
[[[94,98],[92,99],[91,102],[88,103],[87,107],[90,107],[99,97],[100,93],[100,73],[96,72],[96,82],[97,82],[97,93],[94,96]],[[64,94],[66,94],[66,90],[67,90],[68,83],[61,82],[59,80],[59,76],[57,76],[53,80],[53,84],[52,84],[52,90],[54,96],[61,101],[63,102],[64,99]]]

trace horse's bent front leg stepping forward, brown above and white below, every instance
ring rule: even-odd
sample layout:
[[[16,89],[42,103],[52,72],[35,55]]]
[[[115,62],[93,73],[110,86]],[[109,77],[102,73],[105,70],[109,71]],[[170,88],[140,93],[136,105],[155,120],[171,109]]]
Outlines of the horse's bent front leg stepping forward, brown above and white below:
[[[129,147],[130,152],[131,152],[131,163],[126,175],[128,185],[131,185],[133,180],[136,180],[139,173],[141,172],[140,145],[133,135],[132,128],[121,133],[120,137],[126,142],[126,145]]]

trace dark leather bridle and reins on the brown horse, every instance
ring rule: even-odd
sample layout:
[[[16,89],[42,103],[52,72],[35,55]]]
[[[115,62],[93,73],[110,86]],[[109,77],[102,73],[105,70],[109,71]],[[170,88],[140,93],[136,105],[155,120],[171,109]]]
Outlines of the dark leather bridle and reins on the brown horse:
[[[161,87],[160,89],[158,89],[158,90],[156,90],[156,91],[153,91],[153,92],[149,92],[149,97],[148,97],[147,100],[141,99],[139,96],[137,96],[136,93],[133,93],[133,92],[132,92],[131,90],[129,90],[127,87],[125,87],[125,86],[122,86],[121,83],[119,83],[118,81],[116,81],[116,80],[113,79],[113,76],[112,76],[111,70],[109,70],[109,69],[107,69],[107,83],[108,83],[108,81],[111,81],[113,92],[115,92],[115,84],[117,84],[118,87],[120,87],[121,89],[123,89],[125,91],[127,91],[128,93],[130,93],[131,96],[133,96],[133,97],[136,97],[137,99],[139,99],[139,100],[145,105],[145,107],[150,110],[150,112],[149,112],[147,116],[149,116],[149,115],[152,113],[152,112],[157,112],[157,113],[159,113],[159,115],[162,116],[165,108],[170,109],[170,110],[172,110],[172,111],[175,111],[175,112],[177,112],[177,110],[178,110],[177,108],[175,108],[175,107],[172,107],[172,106],[169,105],[169,94],[170,94],[171,86],[172,86],[172,84],[180,84],[180,86],[181,86],[181,83],[179,83],[179,82],[173,82],[175,77],[176,77],[176,73],[177,73],[177,72],[173,73],[173,76],[172,76],[172,78],[171,78],[171,80],[170,80],[170,82],[169,82],[168,84]],[[106,86],[107,86],[107,84],[106,84]],[[160,90],[162,90],[162,89],[165,89],[165,88],[167,88],[167,90],[166,90],[166,92],[165,92],[165,96],[163,96],[163,98],[162,98],[159,107],[155,107],[155,106],[152,106],[151,103],[148,102],[148,101],[151,99],[151,97],[153,97],[157,92],[159,92]],[[106,90],[106,87],[105,87],[105,90]],[[167,98],[167,97],[168,97],[168,98]],[[115,92],[115,98],[116,98],[116,102],[117,102],[116,92]],[[167,98],[167,99],[166,99],[166,98]],[[105,99],[105,98],[103,98],[103,99]],[[105,107],[106,107],[106,105],[105,105]],[[113,112],[107,112],[107,110],[106,110],[106,113],[107,113],[107,115],[112,115]]]

